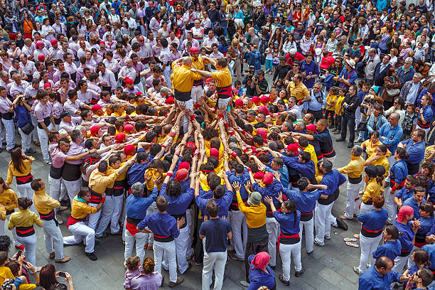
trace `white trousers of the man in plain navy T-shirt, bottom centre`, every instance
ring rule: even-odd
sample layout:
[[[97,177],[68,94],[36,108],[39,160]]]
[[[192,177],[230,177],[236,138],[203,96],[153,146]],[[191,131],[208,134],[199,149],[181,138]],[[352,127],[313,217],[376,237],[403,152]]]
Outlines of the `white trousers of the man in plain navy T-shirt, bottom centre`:
[[[204,251],[203,259],[203,290],[209,290],[212,283],[213,268],[215,269],[215,286],[213,290],[222,289],[227,251],[208,253]]]

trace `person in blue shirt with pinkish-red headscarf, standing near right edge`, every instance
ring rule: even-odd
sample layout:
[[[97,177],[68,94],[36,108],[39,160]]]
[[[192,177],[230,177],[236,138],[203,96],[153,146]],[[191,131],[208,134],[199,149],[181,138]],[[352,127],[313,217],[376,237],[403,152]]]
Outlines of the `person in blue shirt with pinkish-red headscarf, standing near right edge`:
[[[414,247],[413,240],[415,233],[419,230],[420,222],[419,220],[412,221],[413,218],[414,210],[409,205],[403,205],[397,214],[397,219],[394,220],[394,227],[397,227],[397,230],[401,233],[399,241],[402,249],[399,256],[394,259],[392,271],[403,272],[403,267],[407,263],[407,259]]]

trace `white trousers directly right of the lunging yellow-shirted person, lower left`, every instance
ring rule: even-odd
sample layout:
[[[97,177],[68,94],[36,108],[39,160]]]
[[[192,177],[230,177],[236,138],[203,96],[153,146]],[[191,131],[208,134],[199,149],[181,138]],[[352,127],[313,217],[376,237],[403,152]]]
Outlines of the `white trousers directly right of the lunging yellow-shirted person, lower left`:
[[[106,200],[104,200],[101,209],[101,218],[98,223],[97,230],[95,230],[95,235],[101,237],[104,230],[106,230],[107,225],[110,223],[110,232],[116,234],[119,232],[119,216],[121,215],[122,202],[124,201],[124,195],[112,196],[106,195]],[[93,223],[92,219],[92,223]]]

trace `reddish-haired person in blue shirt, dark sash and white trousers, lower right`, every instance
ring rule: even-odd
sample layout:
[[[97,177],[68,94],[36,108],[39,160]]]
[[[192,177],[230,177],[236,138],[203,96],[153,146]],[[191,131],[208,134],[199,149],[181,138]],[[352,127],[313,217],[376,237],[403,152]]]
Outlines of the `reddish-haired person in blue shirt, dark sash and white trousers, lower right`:
[[[375,252],[377,245],[382,240],[382,230],[388,219],[387,210],[382,208],[385,203],[384,197],[382,195],[375,195],[372,199],[373,209],[370,212],[358,215],[358,221],[363,223],[360,234],[360,266],[353,267],[353,271],[358,275],[363,274],[367,264],[375,264],[372,253]]]

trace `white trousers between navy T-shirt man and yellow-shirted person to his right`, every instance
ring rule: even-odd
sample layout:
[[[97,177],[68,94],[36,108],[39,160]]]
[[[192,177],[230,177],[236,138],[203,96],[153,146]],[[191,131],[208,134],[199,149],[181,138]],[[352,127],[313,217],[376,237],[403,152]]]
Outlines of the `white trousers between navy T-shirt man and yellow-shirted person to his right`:
[[[232,228],[231,243],[234,246],[236,256],[240,259],[245,259],[247,242],[246,215],[244,215],[240,210],[232,210],[230,223]]]

